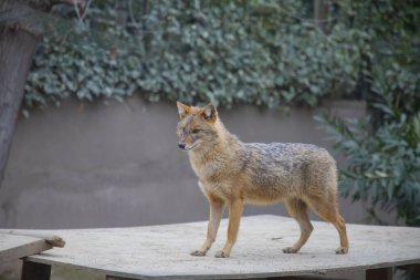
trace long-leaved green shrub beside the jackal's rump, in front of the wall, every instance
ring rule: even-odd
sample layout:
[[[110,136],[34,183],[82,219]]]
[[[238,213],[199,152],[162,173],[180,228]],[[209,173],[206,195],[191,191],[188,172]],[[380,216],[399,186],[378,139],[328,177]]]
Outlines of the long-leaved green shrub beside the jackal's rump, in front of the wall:
[[[340,189],[354,200],[371,201],[369,214],[378,219],[375,206],[396,210],[409,226],[420,225],[420,114],[371,131],[365,121],[322,118],[334,135],[335,147],[347,156],[340,173]],[[379,222],[381,222],[379,220]]]

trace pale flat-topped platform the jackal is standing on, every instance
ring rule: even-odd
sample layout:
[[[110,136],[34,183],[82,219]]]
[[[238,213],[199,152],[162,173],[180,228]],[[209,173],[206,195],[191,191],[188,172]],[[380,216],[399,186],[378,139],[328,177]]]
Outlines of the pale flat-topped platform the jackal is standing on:
[[[387,268],[420,262],[420,228],[347,225],[349,252],[336,255],[338,234],[319,221],[313,222],[315,230],[301,252],[286,255],[282,248],[298,238],[300,229],[293,219],[280,216],[243,217],[231,257],[218,259],[213,256],[223,246],[227,224],[222,220],[218,241],[206,257],[189,255],[204,239],[207,221],[201,221],[54,230],[66,247],[28,257],[25,263],[31,271],[46,271],[36,279],[48,279],[50,266],[101,271],[107,279],[275,278],[375,269],[389,279],[391,270]]]

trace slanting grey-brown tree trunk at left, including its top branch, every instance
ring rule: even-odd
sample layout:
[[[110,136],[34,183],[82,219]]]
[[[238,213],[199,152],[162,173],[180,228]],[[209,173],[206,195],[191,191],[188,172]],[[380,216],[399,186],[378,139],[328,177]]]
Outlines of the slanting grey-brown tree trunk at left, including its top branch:
[[[0,188],[28,71],[43,34],[40,17],[57,3],[85,8],[85,0],[0,0]]]

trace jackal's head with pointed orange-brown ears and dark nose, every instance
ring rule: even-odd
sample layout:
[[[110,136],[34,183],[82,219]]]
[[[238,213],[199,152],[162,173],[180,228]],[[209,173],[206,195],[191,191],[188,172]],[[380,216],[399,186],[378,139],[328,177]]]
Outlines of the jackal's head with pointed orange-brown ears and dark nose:
[[[178,147],[185,151],[211,146],[218,138],[218,113],[210,103],[204,107],[187,106],[177,102],[179,123]]]

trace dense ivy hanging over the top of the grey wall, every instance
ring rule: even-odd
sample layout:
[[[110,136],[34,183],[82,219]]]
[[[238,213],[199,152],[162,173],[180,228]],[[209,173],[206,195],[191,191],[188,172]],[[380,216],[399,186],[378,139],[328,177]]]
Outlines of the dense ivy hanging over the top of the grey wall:
[[[94,1],[83,24],[45,37],[25,104],[141,93],[281,108],[347,96],[358,82],[359,32],[337,22],[325,34],[302,20],[305,1],[136,2],[118,23],[115,1]]]

